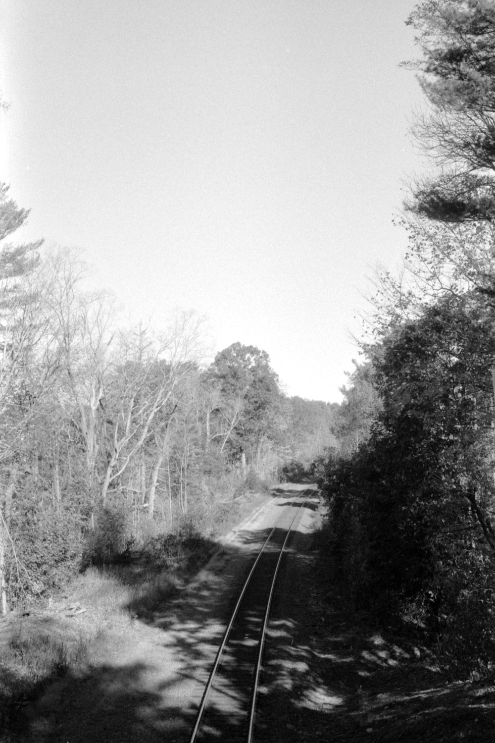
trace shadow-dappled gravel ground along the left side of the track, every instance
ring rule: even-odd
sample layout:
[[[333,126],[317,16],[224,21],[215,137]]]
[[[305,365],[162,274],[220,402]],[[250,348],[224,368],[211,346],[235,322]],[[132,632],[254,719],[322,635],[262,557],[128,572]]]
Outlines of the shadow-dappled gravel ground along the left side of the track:
[[[137,617],[135,647],[122,648],[117,642],[113,658],[105,651],[80,672],[67,672],[47,689],[44,684],[36,703],[27,701],[14,710],[7,721],[12,735],[0,734],[0,740],[188,741],[226,619],[258,545],[270,531],[240,531],[240,545],[221,546],[196,579],[168,594],[153,611],[146,594],[134,600],[125,608]],[[31,697],[36,699],[38,692],[33,690]],[[246,684],[237,703],[248,695]],[[227,719],[229,713],[220,709],[218,730],[223,716]]]

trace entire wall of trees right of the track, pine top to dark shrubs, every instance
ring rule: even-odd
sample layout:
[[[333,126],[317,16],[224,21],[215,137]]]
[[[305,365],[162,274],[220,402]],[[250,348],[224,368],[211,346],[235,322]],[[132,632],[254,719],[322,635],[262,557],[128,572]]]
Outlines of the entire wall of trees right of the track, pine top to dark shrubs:
[[[422,629],[462,672],[495,652],[495,5],[409,18],[427,107],[413,135],[401,272],[378,270],[345,391],[346,447],[324,468],[347,606]]]

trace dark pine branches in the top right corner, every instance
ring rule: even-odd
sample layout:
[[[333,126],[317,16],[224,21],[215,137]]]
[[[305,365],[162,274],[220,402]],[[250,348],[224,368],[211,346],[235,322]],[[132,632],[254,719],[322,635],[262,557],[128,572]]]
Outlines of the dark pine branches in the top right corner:
[[[407,207],[448,222],[495,218],[495,3],[427,0],[408,25],[419,31],[421,73],[429,104],[413,134],[436,173],[413,186]]]

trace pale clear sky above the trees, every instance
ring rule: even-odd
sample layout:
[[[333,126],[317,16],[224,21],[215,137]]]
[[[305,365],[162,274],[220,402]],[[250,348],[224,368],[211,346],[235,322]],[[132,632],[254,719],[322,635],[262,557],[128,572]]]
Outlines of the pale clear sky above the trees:
[[[419,85],[414,0],[0,0],[16,239],[81,247],[134,318],[206,315],[340,400],[394,267]]]

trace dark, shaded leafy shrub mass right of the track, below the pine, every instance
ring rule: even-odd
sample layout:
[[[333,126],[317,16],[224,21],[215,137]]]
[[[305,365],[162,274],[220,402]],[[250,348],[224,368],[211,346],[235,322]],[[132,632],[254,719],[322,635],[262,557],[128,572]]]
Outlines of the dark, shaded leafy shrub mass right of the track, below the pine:
[[[465,672],[495,649],[492,327],[469,296],[391,331],[370,351],[370,438],[321,478],[350,608],[412,620]]]

